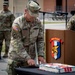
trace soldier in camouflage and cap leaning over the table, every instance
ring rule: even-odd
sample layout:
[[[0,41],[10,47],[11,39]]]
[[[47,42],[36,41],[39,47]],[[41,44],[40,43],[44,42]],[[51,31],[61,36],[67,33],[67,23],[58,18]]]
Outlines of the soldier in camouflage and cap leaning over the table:
[[[8,56],[8,75],[15,75],[15,67],[36,65],[36,52],[39,63],[46,62],[44,59],[44,30],[37,18],[40,9],[37,2],[29,1],[24,15],[13,22]]]

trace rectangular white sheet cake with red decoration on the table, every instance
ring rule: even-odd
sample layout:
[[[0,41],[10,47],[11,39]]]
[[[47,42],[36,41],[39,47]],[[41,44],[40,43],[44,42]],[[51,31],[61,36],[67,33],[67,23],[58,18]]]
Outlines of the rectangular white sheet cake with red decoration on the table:
[[[47,64],[40,64],[39,69],[54,73],[66,73],[66,72],[74,72],[75,66],[61,63],[47,63]]]

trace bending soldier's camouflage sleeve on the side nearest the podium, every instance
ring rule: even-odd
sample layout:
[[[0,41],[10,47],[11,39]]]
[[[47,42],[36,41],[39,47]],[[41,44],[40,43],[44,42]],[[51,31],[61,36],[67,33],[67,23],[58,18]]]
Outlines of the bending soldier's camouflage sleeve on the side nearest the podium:
[[[38,55],[44,57],[44,27],[39,23],[39,34],[37,39]]]

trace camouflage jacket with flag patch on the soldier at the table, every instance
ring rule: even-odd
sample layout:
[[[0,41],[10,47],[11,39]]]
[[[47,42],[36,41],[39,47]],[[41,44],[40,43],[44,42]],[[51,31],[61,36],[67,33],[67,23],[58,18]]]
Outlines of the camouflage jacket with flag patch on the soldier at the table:
[[[44,56],[43,33],[43,26],[38,19],[31,23],[26,21],[24,15],[18,17],[12,25],[9,58],[24,61],[34,59],[35,42],[37,42],[38,56]]]

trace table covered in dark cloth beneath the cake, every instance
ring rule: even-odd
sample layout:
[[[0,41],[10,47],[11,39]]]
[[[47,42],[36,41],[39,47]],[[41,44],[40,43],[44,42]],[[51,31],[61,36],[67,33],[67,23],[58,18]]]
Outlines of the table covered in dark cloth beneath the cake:
[[[29,67],[16,68],[15,70],[18,75],[75,75],[75,72],[58,74],[58,73],[43,71],[40,70],[39,68],[29,68]]]

